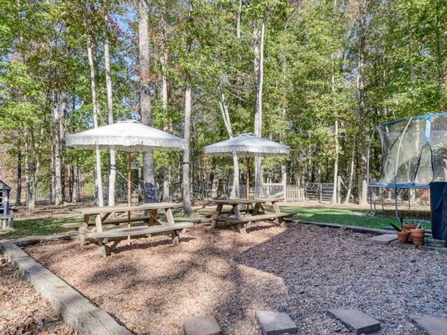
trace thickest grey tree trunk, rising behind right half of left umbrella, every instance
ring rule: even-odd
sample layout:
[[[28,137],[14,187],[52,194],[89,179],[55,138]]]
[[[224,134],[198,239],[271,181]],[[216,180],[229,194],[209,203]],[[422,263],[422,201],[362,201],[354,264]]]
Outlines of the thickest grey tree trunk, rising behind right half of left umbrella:
[[[140,50],[140,113],[141,122],[152,125],[151,96],[149,91],[149,31],[147,0],[138,0],[138,46]],[[156,202],[154,155],[143,153],[143,185],[145,202]]]

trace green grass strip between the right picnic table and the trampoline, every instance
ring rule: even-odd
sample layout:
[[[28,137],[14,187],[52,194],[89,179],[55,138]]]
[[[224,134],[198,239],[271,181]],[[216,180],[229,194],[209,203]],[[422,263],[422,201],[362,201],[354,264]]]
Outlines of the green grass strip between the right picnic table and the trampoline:
[[[340,225],[357,225],[368,228],[391,228],[390,223],[396,223],[393,216],[372,216],[369,211],[341,207],[281,207],[281,211],[293,212],[293,218],[302,221],[319,223],[338,223]],[[430,229],[430,223],[424,223],[423,228]]]

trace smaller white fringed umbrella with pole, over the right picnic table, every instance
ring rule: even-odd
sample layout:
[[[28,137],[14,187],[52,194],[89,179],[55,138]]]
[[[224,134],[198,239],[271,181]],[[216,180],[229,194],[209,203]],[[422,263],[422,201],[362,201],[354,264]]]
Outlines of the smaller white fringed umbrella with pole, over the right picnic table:
[[[258,137],[253,133],[245,133],[240,136],[230,138],[222,142],[207,145],[205,147],[205,154],[213,156],[238,156],[247,157],[247,199],[249,198],[249,179],[250,179],[250,157],[253,156],[284,156],[290,154],[291,148],[265,140],[265,138]]]

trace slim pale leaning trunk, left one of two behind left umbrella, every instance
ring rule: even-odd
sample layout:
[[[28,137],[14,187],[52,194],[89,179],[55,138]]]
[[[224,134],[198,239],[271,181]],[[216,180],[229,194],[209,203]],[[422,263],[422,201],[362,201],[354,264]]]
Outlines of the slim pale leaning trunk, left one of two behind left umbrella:
[[[87,34],[87,55],[89,57],[90,66],[90,82],[91,82],[91,103],[93,105],[93,124],[94,128],[98,128],[98,105],[96,103],[96,78],[95,78],[95,66],[93,61],[93,52],[91,50],[91,36]],[[99,152],[98,146],[96,146],[96,197],[99,207],[104,206],[103,197],[103,180],[101,177],[101,154]]]

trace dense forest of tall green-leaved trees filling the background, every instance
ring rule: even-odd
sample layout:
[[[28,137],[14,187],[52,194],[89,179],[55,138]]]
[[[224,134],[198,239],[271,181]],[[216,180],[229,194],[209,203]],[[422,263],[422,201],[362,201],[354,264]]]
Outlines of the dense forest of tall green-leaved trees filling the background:
[[[252,132],[291,147],[263,160],[265,178],[281,164],[288,184],[341,176],[365,203],[374,127],[447,109],[446,0],[0,3],[0,179],[29,210],[38,194],[75,202],[81,184],[113,204],[126,154],[64,137],[129,118],[189,142],[133,158],[161,199],[231,184],[237,158],[203,147]]]

